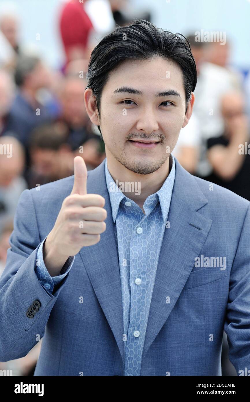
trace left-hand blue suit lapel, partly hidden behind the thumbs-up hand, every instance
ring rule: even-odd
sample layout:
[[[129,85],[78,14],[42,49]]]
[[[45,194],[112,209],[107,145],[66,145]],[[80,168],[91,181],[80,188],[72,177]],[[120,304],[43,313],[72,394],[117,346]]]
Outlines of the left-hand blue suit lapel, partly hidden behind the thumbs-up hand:
[[[106,230],[101,234],[100,242],[93,246],[81,248],[79,254],[96,297],[114,334],[124,363],[122,290],[114,237],[114,222],[106,186],[105,160],[95,170],[88,172],[87,193],[100,194],[105,198],[104,208],[107,211]]]

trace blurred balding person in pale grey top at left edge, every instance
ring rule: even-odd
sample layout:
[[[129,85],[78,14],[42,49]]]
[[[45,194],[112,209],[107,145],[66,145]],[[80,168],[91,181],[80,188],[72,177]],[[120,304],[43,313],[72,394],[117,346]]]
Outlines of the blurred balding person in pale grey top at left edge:
[[[0,137],[0,232],[14,218],[18,199],[27,188],[22,177],[24,149],[14,137]]]

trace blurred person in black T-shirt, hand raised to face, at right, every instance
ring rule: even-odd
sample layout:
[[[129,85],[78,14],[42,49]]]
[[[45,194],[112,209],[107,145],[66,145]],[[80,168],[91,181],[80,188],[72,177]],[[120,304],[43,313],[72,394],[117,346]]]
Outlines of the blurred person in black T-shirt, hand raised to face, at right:
[[[224,132],[207,141],[208,159],[213,167],[213,172],[207,179],[250,201],[250,146],[247,148],[250,144],[249,125],[242,93],[225,94],[222,97],[221,111]],[[241,148],[244,149],[244,154]]]

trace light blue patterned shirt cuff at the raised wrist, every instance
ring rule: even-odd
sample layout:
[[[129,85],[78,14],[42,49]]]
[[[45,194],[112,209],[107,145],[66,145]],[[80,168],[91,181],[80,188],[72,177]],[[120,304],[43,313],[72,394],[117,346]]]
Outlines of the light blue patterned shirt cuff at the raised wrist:
[[[43,260],[43,243],[45,242],[47,236],[43,240],[43,242],[40,244],[38,250],[37,250],[37,260],[36,260],[36,267],[35,267],[35,273],[38,277],[39,282],[43,287],[49,292],[53,293],[53,289],[55,285],[58,285],[63,278],[67,275],[67,273],[70,271],[73,262],[75,260],[75,256],[70,256],[65,264],[63,265],[60,275],[57,275],[55,277],[51,277],[49,274],[47,268],[45,267],[45,263]]]

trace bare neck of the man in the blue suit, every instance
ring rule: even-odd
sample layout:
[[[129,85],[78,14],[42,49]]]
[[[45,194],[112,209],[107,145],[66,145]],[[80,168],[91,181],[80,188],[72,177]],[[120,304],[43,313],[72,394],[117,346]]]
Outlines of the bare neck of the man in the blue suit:
[[[118,162],[118,160],[108,158],[108,155],[107,166],[115,183],[119,183],[120,185],[123,184],[123,188],[120,188],[118,185],[122,193],[142,208],[146,198],[149,195],[156,193],[162,187],[171,170],[172,161],[168,157],[165,163],[158,170],[150,174],[138,174],[132,172]],[[129,191],[130,189],[133,189],[133,186],[126,186],[126,183],[133,183],[136,191]]]

